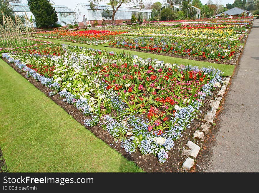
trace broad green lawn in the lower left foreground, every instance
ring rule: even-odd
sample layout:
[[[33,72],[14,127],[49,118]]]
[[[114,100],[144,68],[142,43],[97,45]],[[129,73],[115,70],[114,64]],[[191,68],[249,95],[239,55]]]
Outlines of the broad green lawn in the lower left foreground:
[[[9,172],[142,172],[0,59],[0,146]]]

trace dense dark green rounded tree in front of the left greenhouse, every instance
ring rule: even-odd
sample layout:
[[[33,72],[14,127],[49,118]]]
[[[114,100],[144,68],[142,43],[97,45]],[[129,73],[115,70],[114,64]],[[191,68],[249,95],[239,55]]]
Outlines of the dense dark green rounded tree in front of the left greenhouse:
[[[57,11],[48,0],[28,0],[28,6],[38,28],[47,28],[58,21]]]

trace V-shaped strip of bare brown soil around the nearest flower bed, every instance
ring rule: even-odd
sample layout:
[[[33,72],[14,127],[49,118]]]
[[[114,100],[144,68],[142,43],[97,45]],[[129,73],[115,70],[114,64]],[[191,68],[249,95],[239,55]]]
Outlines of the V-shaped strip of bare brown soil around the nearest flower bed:
[[[6,61],[6,59],[4,59]],[[15,66],[14,63],[8,63],[14,70],[16,70],[19,74],[21,74],[24,78],[26,78],[26,73],[22,72],[19,68]],[[49,97],[48,93],[53,91],[46,86],[42,85],[40,82],[37,82],[32,77],[26,78],[30,83],[32,83],[36,88],[38,88],[41,92],[43,92],[47,97]],[[214,100],[215,94],[220,90],[217,88],[212,96],[208,96],[205,100],[208,101],[210,99]],[[77,120],[79,123],[84,125],[84,119],[89,118],[85,117],[82,112],[80,112],[74,105],[70,105],[66,102],[63,102],[59,94],[56,94],[54,96],[49,97],[51,100],[53,100],[55,103],[57,103],[59,106],[61,106],[69,115],[71,115],[75,120]],[[205,105],[206,106],[206,105]],[[202,107],[200,110],[202,111],[199,119],[202,119],[203,115],[207,112],[209,108]],[[88,130],[90,130],[95,136],[103,140],[105,143],[110,145],[113,149],[120,152],[124,157],[126,157],[128,160],[131,160],[135,162],[139,167],[141,167],[146,172],[184,172],[182,170],[182,164],[187,158],[184,155],[181,155],[183,147],[185,147],[188,140],[194,141],[197,145],[200,147],[202,146],[202,143],[199,143],[199,141],[195,141],[192,136],[193,133],[197,130],[198,127],[203,122],[197,119],[194,119],[192,124],[190,125],[190,129],[187,129],[182,132],[183,137],[179,140],[175,141],[175,146],[173,150],[170,150],[168,153],[168,159],[164,164],[160,164],[157,160],[157,157],[154,155],[141,155],[140,152],[137,150],[136,152],[129,155],[124,149],[120,147],[119,143],[114,143],[114,138],[107,132],[100,127],[98,124],[95,127],[86,127]]]

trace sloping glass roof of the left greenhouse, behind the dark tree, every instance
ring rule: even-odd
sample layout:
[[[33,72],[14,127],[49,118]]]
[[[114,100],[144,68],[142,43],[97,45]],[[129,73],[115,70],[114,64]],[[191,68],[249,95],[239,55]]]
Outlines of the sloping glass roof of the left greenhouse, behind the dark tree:
[[[12,10],[14,12],[31,12],[30,7],[25,4],[25,3],[11,3],[10,5],[12,6]],[[74,13],[72,9],[69,9],[67,6],[64,5],[52,5],[55,7],[55,10],[57,13]]]

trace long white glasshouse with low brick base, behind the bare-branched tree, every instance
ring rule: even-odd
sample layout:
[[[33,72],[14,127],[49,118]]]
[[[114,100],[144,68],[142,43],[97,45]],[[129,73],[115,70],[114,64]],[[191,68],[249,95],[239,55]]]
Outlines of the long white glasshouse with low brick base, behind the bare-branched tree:
[[[92,10],[90,4],[79,3],[77,4],[74,11],[79,12],[80,16],[78,19],[79,25],[93,24],[96,20],[98,24],[102,24],[104,20],[106,23],[112,23],[112,6],[110,5],[97,5]],[[135,14],[136,18],[140,16],[143,21],[147,20],[151,16],[151,9],[138,9],[135,7],[124,7],[120,6],[118,11],[115,13],[115,23],[122,23],[122,21],[130,22],[132,14]]]

